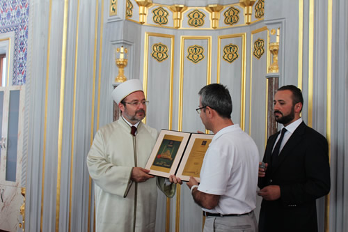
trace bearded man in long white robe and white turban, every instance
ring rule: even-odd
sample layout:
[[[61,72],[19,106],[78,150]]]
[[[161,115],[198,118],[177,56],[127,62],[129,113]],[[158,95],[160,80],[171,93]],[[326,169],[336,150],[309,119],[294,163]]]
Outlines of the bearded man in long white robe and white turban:
[[[156,183],[168,197],[175,194],[175,185],[165,185],[164,178],[142,168],[158,132],[141,122],[146,112],[141,82],[124,82],[112,95],[122,116],[97,131],[87,156],[95,183],[96,231],[155,231]]]

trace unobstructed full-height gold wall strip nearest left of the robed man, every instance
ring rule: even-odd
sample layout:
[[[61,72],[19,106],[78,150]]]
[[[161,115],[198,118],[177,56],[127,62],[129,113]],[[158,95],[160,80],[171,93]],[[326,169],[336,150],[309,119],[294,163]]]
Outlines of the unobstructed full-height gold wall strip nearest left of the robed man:
[[[70,196],[69,196],[69,232],[71,231],[71,204],[72,204],[72,180],[74,171],[74,137],[75,137],[75,116],[76,116],[76,88],[77,88],[77,59],[79,52],[79,6],[80,0],[77,0],[77,19],[76,19],[76,38],[75,38],[75,61],[74,61],[74,100],[72,102],[72,131],[71,131],[71,157],[70,157]]]

